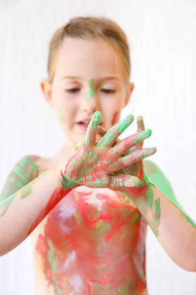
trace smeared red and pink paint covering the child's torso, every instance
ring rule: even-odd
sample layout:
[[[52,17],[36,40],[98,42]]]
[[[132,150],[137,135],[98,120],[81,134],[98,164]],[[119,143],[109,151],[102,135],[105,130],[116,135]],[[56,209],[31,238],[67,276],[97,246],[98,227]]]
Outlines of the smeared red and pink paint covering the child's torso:
[[[146,289],[146,222],[125,196],[102,192],[73,189],[38,237],[36,251],[57,295],[142,295]]]

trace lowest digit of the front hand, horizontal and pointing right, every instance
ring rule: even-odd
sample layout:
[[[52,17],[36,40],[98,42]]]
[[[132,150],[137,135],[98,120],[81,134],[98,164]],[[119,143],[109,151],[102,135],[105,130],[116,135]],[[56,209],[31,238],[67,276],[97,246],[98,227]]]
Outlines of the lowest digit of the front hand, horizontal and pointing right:
[[[141,181],[138,177],[131,176],[131,175],[120,175],[117,174],[115,176],[111,176],[109,187],[117,188],[117,187],[124,187],[124,186],[139,186]]]

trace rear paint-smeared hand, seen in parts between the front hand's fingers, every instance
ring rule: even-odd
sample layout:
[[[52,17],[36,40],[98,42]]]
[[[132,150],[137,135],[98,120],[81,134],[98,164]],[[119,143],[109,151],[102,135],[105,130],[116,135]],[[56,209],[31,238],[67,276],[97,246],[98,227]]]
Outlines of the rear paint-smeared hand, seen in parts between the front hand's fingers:
[[[98,126],[98,135],[103,137],[107,134],[107,130],[104,130],[100,126]],[[127,150],[128,154],[135,154],[136,152],[142,152],[144,150],[150,150],[149,148],[143,148],[144,140],[147,139],[151,135],[151,130],[145,130],[145,125],[142,116],[137,117],[137,133],[130,135],[129,137],[125,138],[124,140],[117,139],[115,146],[123,145],[124,142],[127,142],[127,139],[135,138],[135,145],[130,147]],[[150,155],[156,152],[156,148],[151,148],[152,152]],[[125,155],[124,155],[125,156]],[[142,159],[135,159],[131,165],[126,165],[126,167],[121,168],[116,173],[123,174],[123,175],[131,175],[138,177],[141,181],[141,184],[138,187],[133,187],[126,189],[125,187],[122,189],[126,192],[130,198],[136,199],[144,196],[147,193],[149,187],[148,177],[145,174],[144,165]]]

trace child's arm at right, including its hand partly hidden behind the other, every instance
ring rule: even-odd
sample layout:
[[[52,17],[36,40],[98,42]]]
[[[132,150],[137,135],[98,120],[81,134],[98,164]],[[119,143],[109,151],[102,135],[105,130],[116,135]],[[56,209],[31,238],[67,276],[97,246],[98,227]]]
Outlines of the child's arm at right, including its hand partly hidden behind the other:
[[[143,131],[138,137],[141,139],[145,130],[141,116],[137,118],[137,126],[138,132]],[[103,137],[105,134],[107,130],[98,127],[98,135]],[[123,140],[116,140],[116,147],[122,144]],[[143,141],[138,141],[129,152],[141,148]],[[172,192],[170,182],[159,168],[152,162],[145,163],[146,169],[142,161],[134,161],[125,169],[120,167],[117,173],[139,177],[141,185],[122,187],[119,191],[135,204],[172,260],[186,270],[196,271],[196,223],[185,214]]]

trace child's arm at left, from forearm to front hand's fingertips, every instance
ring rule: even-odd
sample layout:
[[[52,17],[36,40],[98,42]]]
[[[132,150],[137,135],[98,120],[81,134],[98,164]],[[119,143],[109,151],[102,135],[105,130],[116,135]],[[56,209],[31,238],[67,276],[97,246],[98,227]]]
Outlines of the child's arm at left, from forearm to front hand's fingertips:
[[[96,145],[100,113],[96,112],[89,123],[82,145],[68,161],[56,164],[39,177],[26,184],[16,193],[2,198],[0,202],[0,255],[19,245],[44,219],[44,217],[73,188],[137,186],[140,180],[128,175],[111,175],[113,166],[123,162],[123,167],[133,160],[142,160],[156,149],[135,151],[121,157],[135,145],[137,135],[127,139],[126,147],[112,148],[116,138],[131,124],[133,116],[127,116]],[[144,139],[143,139],[144,140]],[[22,171],[21,177],[25,179]],[[18,179],[19,180],[19,179]],[[15,180],[14,180],[15,181]],[[20,186],[17,182],[17,186]]]

